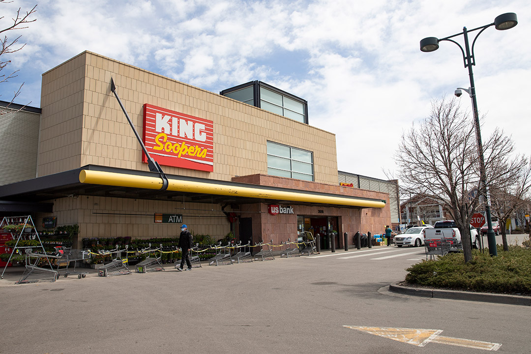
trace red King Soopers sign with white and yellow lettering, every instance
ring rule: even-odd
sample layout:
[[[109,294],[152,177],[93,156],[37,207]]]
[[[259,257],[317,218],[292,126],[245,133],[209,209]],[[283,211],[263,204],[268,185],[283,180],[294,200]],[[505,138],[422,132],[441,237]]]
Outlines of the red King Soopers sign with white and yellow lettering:
[[[144,105],[144,145],[160,165],[214,170],[212,120]],[[142,154],[142,162],[148,162]]]

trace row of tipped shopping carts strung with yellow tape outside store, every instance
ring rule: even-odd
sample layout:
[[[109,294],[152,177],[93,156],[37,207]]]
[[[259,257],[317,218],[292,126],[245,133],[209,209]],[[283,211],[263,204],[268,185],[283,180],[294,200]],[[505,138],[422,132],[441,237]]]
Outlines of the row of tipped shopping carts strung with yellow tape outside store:
[[[279,251],[273,251],[272,240],[270,243],[256,243],[252,246],[250,243],[242,245],[239,243],[229,243],[222,246],[221,243],[210,247],[200,248],[198,244],[191,248],[190,261],[193,267],[201,267],[202,253],[206,251],[215,251],[215,255],[208,258],[209,265],[235,264],[242,262],[275,260],[275,253],[280,254],[280,257],[294,257],[303,254],[316,254],[315,239],[311,232],[307,232],[305,237],[301,237],[297,242],[288,241],[279,246]],[[258,250],[258,252],[254,251]],[[174,251],[176,252],[177,248]],[[87,260],[91,256],[109,257],[110,262],[102,265],[98,269],[98,275],[101,277],[110,277],[113,275],[131,274],[129,268],[130,253],[145,255],[145,259],[136,264],[136,273],[148,273],[155,271],[165,271],[162,264],[161,256],[165,251],[162,250],[162,245],[152,247],[151,244],[147,248],[136,251],[130,251],[129,246],[125,245],[120,248],[118,245],[115,249],[108,251],[98,251],[93,253],[90,250],[74,249],[66,247],[55,247],[55,253],[35,253],[31,248],[26,249],[25,254],[25,270],[16,283],[31,283],[38,281],[56,281],[59,277],[68,277],[68,275],[77,275],[78,279],[85,278],[88,272],[76,271],[76,265],[80,261]],[[167,252],[167,251],[166,251]],[[73,267],[72,267],[73,265]],[[178,264],[175,264],[177,267]]]

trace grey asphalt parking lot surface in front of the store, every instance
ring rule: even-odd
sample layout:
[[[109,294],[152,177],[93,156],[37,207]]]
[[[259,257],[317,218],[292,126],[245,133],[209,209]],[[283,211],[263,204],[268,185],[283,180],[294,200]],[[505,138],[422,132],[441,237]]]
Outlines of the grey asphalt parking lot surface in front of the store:
[[[165,264],[164,272],[99,277],[79,267],[86,278],[17,285],[24,267],[12,267],[0,280],[0,353],[417,352],[345,325],[441,329],[528,352],[517,329],[529,307],[498,303],[487,310],[478,299],[384,291],[422,259],[422,247],[376,246],[239,265],[203,263],[190,272]],[[460,314],[458,323],[450,312]],[[430,352],[461,352],[448,350],[433,344]]]

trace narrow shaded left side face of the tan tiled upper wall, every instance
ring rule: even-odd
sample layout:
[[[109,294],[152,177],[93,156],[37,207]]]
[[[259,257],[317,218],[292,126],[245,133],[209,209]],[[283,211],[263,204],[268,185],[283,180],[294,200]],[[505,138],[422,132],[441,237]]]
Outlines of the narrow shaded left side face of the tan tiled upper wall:
[[[42,74],[38,176],[80,167],[84,82],[84,56]]]

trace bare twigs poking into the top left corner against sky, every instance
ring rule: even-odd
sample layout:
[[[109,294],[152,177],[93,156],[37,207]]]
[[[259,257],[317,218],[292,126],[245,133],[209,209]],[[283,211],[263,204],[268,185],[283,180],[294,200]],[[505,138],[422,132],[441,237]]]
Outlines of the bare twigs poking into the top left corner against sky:
[[[12,1],[0,0],[0,4],[7,4],[7,3],[12,3]],[[12,31],[15,29],[20,30],[20,29],[28,28],[27,26],[25,26],[25,24],[37,21],[37,19],[31,19],[32,18],[31,15],[35,13],[36,8],[37,8],[37,5],[33,6],[33,8],[30,11],[27,11],[24,14],[24,12],[21,11],[21,8],[19,7],[19,10],[16,12],[16,16],[11,19],[7,27],[0,29],[0,33],[4,33],[3,34],[4,38],[0,37],[0,45],[2,45],[2,48],[0,48],[0,83],[7,82],[8,80],[13,79],[13,77],[17,76],[16,73],[18,72],[18,70],[15,70],[14,72],[11,72],[9,74],[5,74],[3,71],[6,68],[6,66],[11,63],[11,60],[8,58],[8,55],[21,50],[25,46],[25,44],[22,44],[22,45],[19,44],[19,39],[22,36],[18,36],[15,39],[10,39],[7,37],[7,34],[5,34],[5,32]],[[3,11],[0,11],[0,13],[3,13]],[[0,17],[0,21],[2,20],[4,20],[4,16]],[[23,85],[24,83],[22,83],[19,89],[14,92],[13,98],[11,99],[10,103],[13,103],[15,98],[19,96]],[[2,114],[3,112],[0,111],[0,115]]]

